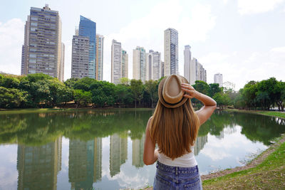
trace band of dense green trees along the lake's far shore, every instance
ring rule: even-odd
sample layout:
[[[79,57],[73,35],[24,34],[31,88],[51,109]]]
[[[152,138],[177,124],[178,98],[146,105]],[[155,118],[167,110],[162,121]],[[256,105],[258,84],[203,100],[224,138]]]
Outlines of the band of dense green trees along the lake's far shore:
[[[162,78],[160,78],[162,80]],[[120,84],[92,78],[71,78],[64,83],[42,73],[0,75],[0,108],[36,107],[155,107],[160,80],[129,80],[121,78]],[[266,109],[277,105],[284,110],[285,83],[275,78],[250,81],[235,92],[219,88],[217,83],[207,84],[197,80],[193,87],[200,93],[213,97],[220,109]],[[202,103],[192,99],[195,107]]]

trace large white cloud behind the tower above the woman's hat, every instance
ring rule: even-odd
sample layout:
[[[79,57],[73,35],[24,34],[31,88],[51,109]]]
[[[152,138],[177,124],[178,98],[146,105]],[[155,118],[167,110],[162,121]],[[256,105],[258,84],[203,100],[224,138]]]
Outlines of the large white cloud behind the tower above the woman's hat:
[[[215,17],[212,16],[209,5],[182,5],[172,0],[156,4],[152,6],[149,14],[132,21],[118,33],[105,36],[103,79],[110,80],[110,49],[113,39],[121,42],[123,49],[128,52],[129,78],[133,78],[133,49],[142,46],[147,52],[150,49],[159,51],[164,60],[164,31],[167,28],[175,28],[178,31],[180,48],[179,68],[180,73],[183,73],[184,46],[194,41],[205,41],[214,25]]]

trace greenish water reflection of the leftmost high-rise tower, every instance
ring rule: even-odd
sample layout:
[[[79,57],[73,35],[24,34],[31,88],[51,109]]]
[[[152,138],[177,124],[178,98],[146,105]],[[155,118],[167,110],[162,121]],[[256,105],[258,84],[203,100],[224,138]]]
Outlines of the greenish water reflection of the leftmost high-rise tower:
[[[38,147],[18,145],[18,189],[56,189],[61,144],[58,137],[55,142]]]

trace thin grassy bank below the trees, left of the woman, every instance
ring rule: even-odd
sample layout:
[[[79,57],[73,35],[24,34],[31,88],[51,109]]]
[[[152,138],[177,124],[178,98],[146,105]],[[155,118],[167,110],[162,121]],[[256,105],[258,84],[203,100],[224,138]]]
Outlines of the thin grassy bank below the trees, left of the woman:
[[[0,110],[0,115],[6,114],[23,114],[23,113],[41,113],[41,112],[78,112],[78,111],[107,111],[107,110],[123,110],[123,111],[147,111],[152,108],[31,108],[31,109],[15,109],[15,110]]]

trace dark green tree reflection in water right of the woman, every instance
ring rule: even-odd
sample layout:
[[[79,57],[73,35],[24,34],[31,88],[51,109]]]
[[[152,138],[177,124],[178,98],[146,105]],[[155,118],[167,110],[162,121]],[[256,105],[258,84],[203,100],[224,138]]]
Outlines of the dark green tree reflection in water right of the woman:
[[[208,132],[216,137],[222,137],[225,127],[230,134],[234,132],[235,126],[242,127],[242,134],[252,141],[271,144],[270,140],[280,137],[285,132],[285,120],[264,115],[255,115],[240,112],[217,111],[210,119],[200,127],[199,136],[204,136]]]

